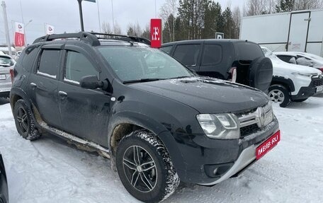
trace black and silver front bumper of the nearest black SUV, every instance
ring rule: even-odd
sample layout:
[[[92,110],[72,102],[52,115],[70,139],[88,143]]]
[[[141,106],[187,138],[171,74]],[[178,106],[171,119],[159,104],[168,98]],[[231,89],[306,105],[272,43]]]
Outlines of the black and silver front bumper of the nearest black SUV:
[[[179,142],[179,137],[183,138],[185,135],[176,134],[182,161],[173,161],[179,178],[183,182],[199,185],[215,185],[227,180],[251,166],[256,161],[256,147],[278,129],[278,120],[275,118],[259,132],[243,139],[219,140],[209,139],[201,134],[189,134],[186,135],[186,140]]]

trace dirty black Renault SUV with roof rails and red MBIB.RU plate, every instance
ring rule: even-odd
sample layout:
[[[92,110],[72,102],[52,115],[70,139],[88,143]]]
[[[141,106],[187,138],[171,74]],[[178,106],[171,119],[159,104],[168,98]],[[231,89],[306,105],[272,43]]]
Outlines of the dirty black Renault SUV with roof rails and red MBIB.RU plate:
[[[263,92],[195,76],[131,39],[41,37],[13,73],[11,108],[23,138],[50,132],[98,151],[144,202],[169,197],[180,180],[215,185],[234,177],[279,138]]]

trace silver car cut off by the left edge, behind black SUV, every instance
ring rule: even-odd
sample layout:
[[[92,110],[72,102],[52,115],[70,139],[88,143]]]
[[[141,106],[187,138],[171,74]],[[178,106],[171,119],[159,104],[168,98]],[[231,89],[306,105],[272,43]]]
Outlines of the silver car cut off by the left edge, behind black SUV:
[[[11,90],[10,69],[16,61],[8,55],[0,55],[0,98],[8,98]]]

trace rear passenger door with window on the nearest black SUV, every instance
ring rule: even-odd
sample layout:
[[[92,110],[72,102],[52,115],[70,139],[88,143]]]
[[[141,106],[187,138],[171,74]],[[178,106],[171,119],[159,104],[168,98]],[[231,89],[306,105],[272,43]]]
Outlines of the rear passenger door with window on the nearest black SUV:
[[[34,74],[30,74],[28,92],[42,120],[60,128],[60,112],[57,103],[58,72],[62,50],[59,45],[45,45],[35,63]]]

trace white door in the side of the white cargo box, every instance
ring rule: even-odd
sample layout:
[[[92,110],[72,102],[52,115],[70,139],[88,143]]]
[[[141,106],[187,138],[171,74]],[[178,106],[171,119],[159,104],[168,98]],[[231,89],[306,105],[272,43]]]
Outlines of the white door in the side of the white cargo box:
[[[290,14],[288,52],[306,52],[310,11]]]

